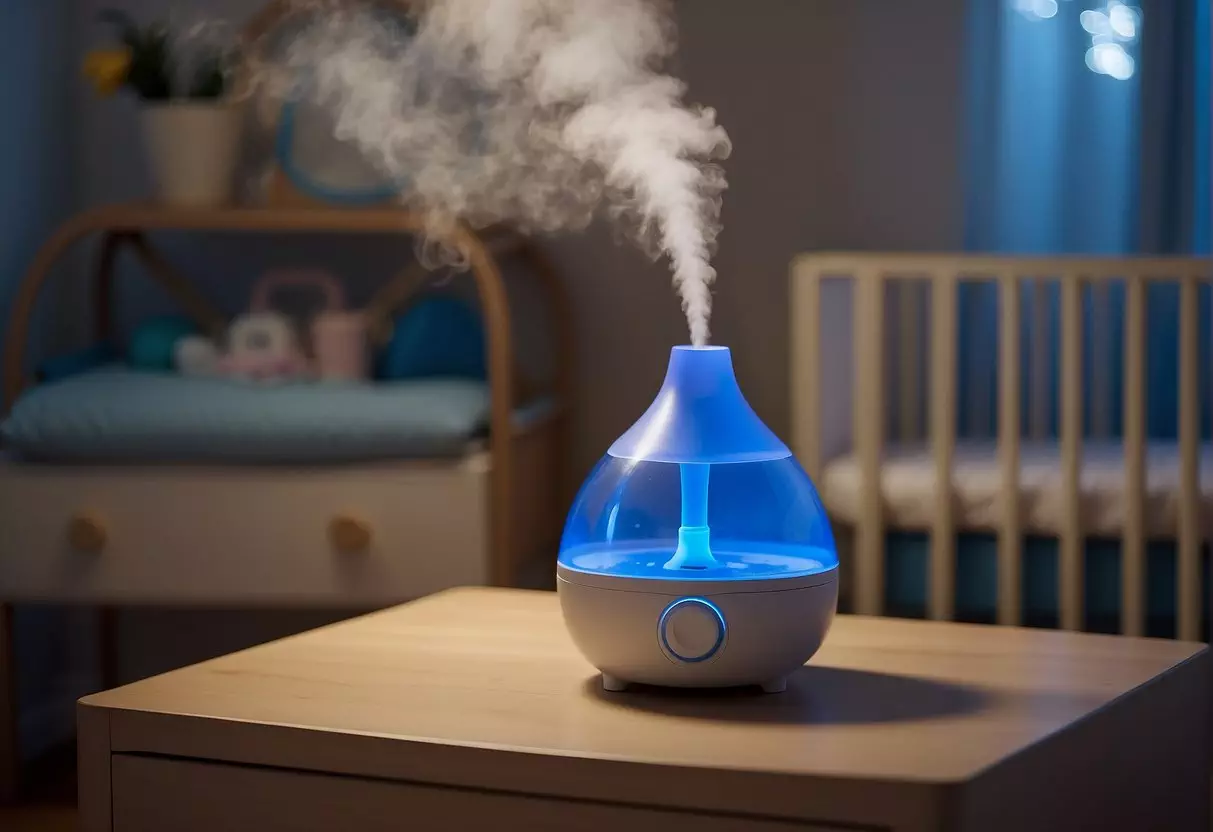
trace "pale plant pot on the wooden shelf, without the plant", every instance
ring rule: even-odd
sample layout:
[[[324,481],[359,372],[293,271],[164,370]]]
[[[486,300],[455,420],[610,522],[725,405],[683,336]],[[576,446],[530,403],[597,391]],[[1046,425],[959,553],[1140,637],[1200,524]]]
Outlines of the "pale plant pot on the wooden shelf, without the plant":
[[[147,104],[142,118],[160,201],[188,207],[232,201],[243,125],[238,107],[211,101]]]

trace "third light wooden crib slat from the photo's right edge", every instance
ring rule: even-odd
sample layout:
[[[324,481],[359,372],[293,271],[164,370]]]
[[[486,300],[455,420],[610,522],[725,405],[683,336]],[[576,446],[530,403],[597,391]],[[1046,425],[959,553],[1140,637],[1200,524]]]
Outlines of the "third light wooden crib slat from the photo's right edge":
[[[1061,278],[1061,628],[1083,625],[1082,472],[1082,279]]]

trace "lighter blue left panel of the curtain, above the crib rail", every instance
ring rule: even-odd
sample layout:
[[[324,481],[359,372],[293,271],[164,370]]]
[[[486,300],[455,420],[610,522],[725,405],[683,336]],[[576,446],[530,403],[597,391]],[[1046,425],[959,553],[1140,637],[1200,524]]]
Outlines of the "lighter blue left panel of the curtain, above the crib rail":
[[[1140,74],[1122,81],[1087,68],[1090,36],[1072,5],[1032,18],[1018,0],[973,0],[966,226],[973,251],[1135,250]]]

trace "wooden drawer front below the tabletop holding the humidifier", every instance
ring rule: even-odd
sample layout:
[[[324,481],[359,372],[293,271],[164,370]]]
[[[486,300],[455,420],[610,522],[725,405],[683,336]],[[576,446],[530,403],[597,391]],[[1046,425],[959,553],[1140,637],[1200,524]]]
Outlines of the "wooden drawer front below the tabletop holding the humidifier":
[[[115,754],[113,832],[842,832],[828,826]]]

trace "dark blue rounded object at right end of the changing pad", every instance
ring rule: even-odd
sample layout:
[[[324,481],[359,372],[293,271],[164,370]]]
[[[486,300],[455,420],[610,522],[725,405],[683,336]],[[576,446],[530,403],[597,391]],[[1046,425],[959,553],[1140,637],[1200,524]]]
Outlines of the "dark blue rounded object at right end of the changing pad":
[[[484,323],[468,303],[432,295],[410,306],[378,357],[380,378],[485,378]]]

